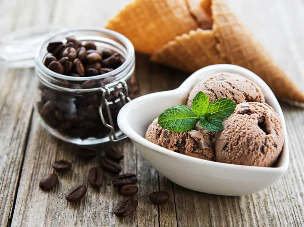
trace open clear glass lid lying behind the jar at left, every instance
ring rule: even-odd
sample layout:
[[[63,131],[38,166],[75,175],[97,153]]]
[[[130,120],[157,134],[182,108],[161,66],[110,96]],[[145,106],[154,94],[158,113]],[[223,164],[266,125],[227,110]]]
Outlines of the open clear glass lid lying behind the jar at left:
[[[54,34],[66,29],[60,26],[32,26],[0,37],[0,66],[30,68],[35,64],[37,47]]]

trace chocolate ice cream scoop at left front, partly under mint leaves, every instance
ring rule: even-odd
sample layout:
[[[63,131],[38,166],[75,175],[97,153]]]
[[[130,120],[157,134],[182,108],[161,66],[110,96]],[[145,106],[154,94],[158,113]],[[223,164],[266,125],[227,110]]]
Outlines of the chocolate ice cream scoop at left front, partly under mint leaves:
[[[145,139],[174,152],[214,161],[210,132],[197,125],[187,132],[172,132],[163,129],[155,119],[147,129]]]

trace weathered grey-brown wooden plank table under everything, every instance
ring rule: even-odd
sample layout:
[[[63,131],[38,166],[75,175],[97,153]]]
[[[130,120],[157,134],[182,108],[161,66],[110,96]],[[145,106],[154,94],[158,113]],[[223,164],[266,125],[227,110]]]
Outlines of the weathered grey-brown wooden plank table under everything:
[[[0,0],[0,34],[30,25],[101,27],[127,2],[124,0]],[[293,81],[304,90],[304,1],[230,0],[233,11],[257,36]],[[188,76],[136,55],[141,95],[174,89]],[[197,193],[178,186],[151,167],[129,140],[122,173],[139,178],[136,212],[117,218],[112,210],[122,196],[109,174],[99,191],[87,182],[88,170],[98,160],[84,161],[76,146],[51,136],[40,126],[31,105],[34,70],[0,68],[0,226],[303,226],[304,225],[304,111],[282,104],[290,140],[290,166],[285,176],[260,193],[224,197]],[[102,153],[108,144],[100,145]],[[111,144],[112,145],[112,144]],[[42,176],[52,173],[55,160],[73,168],[58,174],[60,183],[50,192],[40,190]],[[71,185],[88,185],[86,197],[68,203]],[[170,201],[149,202],[149,193],[165,190]]]

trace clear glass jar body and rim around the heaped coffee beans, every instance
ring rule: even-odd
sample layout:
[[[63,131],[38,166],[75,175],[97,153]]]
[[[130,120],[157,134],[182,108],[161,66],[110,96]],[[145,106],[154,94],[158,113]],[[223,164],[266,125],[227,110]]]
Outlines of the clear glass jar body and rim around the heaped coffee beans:
[[[97,50],[109,48],[125,59],[118,68],[93,77],[70,77],[47,68],[48,43],[66,37],[93,41]],[[33,105],[41,124],[55,137],[81,145],[119,141],[125,136],[117,126],[121,107],[139,92],[134,74],[132,43],[107,29],[67,30],[45,41],[35,53],[36,89]]]

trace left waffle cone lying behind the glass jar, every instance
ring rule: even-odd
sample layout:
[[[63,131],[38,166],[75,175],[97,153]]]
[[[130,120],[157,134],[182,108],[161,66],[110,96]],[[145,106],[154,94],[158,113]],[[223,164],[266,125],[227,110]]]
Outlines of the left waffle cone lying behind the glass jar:
[[[185,0],[135,0],[105,28],[128,37],[135,50],[153,54],[174,37],[198,28]]]

